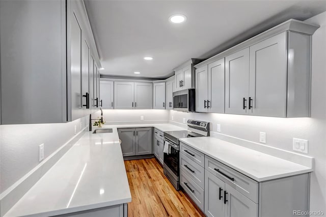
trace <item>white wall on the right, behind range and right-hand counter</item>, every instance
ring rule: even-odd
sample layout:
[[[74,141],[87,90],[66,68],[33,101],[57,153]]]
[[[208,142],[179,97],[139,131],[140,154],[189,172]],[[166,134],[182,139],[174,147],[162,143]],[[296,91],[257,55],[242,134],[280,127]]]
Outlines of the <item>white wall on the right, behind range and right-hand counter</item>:
[[[227,114],[171,111],[175,122],[183,118],[209,121],[212,131],[259,143],[259,131],[266,132],[266,145],[292,151],[292,139],[309,140],[309,156],[315,158],[311,175],[310,210],[326,212],[326,12],[307,20],[319,24],[313,35],[311,118],[270,118]]]

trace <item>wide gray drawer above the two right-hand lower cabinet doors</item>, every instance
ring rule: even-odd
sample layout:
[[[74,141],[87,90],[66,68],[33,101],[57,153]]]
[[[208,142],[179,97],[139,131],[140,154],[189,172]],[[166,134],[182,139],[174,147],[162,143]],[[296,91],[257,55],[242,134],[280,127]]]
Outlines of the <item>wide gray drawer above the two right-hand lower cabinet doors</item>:
[[[258,203],[258,182],[205,155],[205,169],[235,188],[242,195]],[[219,170],[219,171],[218,171]],[[231,178],[233,180],[231,180]]]

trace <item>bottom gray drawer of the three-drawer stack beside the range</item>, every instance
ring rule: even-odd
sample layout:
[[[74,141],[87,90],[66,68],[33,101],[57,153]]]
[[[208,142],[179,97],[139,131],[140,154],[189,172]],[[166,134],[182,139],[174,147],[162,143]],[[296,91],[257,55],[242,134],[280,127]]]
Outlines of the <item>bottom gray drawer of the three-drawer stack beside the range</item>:
[[[180,170],[180,185],[197,206],[204,211],[204,190]]]

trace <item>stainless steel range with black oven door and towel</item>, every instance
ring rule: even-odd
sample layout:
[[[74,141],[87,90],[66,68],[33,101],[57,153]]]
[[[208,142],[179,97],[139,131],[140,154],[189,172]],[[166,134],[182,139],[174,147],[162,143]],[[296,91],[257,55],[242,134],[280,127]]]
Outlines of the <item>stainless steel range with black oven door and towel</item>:
[[[189,137],[209,137],[209,122],[187,121],[187,130],[164,132],[164,142],[169,142],[171,151],[164,153],[164,174],[179,190],[179,139]]]

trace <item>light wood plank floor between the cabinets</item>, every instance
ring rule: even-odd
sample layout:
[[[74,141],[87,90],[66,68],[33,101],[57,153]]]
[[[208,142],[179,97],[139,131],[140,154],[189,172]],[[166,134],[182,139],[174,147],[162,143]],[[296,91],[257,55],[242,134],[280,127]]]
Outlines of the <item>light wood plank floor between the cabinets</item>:
[[[131,199],[129,217],[205,216],[182,191],[176,191],[155,158],[126,160]]]

